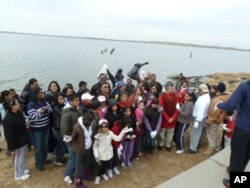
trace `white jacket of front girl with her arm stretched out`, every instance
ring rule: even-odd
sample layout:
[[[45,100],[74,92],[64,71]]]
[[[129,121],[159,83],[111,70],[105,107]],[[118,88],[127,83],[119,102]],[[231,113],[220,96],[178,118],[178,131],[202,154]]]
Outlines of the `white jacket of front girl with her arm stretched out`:
[[[113,146],[111,141],[120,142],[124,136],[122,131],[119,136],[115,135],[112,131],[109,134],[100,134],[98,139],[94,141],[93,151],[96,159],[101,161],[108,161],[113,157]]]

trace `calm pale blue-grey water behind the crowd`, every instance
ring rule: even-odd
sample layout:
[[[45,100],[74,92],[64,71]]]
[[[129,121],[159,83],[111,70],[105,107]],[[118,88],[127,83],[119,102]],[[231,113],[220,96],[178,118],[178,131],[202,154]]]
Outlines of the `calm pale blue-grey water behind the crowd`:
[[[113,55],[101,55],[101,50],[113,47]],[[43,89],[51,80],[61,87],[71,82],[75,88],[85,80],[90,87],[103,64],[113,73],[121,67],[126,74],[135,63],[148,61],[143,70],[165,82],[166,76],[180,72],[249,72],[249,60],[250,52],[0,33],[0,90],[13,87],[20,92],[32,77]]]

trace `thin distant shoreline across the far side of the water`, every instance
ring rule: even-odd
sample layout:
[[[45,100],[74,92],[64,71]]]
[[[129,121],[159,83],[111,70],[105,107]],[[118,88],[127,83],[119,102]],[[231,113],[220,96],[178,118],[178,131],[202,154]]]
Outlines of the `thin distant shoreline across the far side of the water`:
[[[178,43],[178,42],[118,40],[118,39],[105,39],[105,38],[97,38],[97,37],[46,35],[46,34],[22,33],[22,32],[11,32],[11,31],[0,31],[0,33],[19,34],[19,35],[34,35],[34,36],[48,36],[48,37],[60,37],[60,38],[64,37],[64,38],[89,39],[89,40],[104,40],[104,41],[114,41],[114,42],[133,42],[133,43],[162,44],[162,45],[173,45],[173,46],[189,46],[189,47],[194,47],[194,48],[210,48],[210,49],[219,49],[219,50],[232,50],[232,51],[250,52],[250,49],[242,49],[242,48],[235,48],[235,47],[199,45],[199,44],[191,44],[191,43]]]

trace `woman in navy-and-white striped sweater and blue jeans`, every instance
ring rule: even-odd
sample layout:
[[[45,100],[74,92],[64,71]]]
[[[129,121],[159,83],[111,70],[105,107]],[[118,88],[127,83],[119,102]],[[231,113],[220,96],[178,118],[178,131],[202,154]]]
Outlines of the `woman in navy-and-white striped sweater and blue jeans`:
[[[49,115],[52,112],[50,104],[44,98],[41,88],[32,90],[32,101],[28,104],[31,135],[35,148],[36,169],[44,170],[47,162],[49,139]]]

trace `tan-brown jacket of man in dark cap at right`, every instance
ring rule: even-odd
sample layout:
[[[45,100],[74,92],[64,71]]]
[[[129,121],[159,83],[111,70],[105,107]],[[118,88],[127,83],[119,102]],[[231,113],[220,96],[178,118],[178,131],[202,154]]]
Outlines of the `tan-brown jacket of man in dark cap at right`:
[[[207,117],[207,124],[221,124],[226,117],[226,112],[221,109],[216,109],[216,105],[220,102],[226,102],[228,99],[227,94],[220,94],[215,96],[210,103]]]

